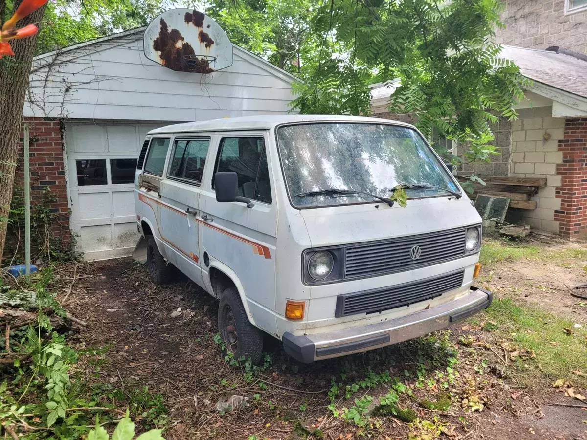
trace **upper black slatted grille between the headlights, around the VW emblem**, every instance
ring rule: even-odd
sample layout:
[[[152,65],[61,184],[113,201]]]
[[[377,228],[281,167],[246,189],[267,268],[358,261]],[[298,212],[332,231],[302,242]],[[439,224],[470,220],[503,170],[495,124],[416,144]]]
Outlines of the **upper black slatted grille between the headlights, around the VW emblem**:
[[[413,259],[410,251],[419,246]],[[346,247],[345,279],[403,272],[464,256],[465,228],[409,235]]]

